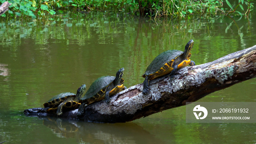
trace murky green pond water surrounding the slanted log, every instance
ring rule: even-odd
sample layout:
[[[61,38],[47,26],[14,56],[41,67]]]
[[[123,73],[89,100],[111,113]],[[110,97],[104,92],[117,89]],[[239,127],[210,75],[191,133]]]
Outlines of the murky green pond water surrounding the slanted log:
[[[87,89],[100,76],[125,68],[125,86],[159,53],[195,44],[203,64],[256,45],[255,14],[216,20],[150,21],[112,13],[61,15],[45,23],[0,24],[0,142],[5,143],[256,143],[254,123],[185,122],[185,106],[139,120],[98,124],[26,117],[61,92]],[[214,92],[199,102],[256,102],[256,79]]]

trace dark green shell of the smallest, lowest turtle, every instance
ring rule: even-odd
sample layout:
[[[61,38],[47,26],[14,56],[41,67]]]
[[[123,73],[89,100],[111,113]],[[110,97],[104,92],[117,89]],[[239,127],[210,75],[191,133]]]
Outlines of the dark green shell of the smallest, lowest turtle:
[[[53,96],[51,99],[49,99],[48,102],[44,103],[44,107],[52,107],[52,106],[56,106],[59,105],[61,102],[64,101],[64,99],[66,99],[68,96],[75,96],[76,94],[72,93],[72,92],[63,92],[60,93],[58,95]],[[52,102],[53,101],[53,102]],[[52,105],[49,105],[49,102],[52,102]]]

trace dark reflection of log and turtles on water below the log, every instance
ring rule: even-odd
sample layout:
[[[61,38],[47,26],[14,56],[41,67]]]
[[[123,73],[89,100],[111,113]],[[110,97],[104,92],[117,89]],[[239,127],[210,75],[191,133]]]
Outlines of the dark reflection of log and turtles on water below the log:
[[[49,116],[33,117],[43,119],[43,125],[57,137],[75,138],[80,143],[163,143],[133,122],[101,124]]]

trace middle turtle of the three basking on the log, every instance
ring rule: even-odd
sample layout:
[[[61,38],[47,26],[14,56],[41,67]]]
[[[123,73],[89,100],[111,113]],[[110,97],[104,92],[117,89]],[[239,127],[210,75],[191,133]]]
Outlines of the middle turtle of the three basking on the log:
[[[105,99],[106,103],[110,102],[110,96],[117,94],[118,92],[125,90],[124,79],[124,68],[117,71],[116,77],[114,76],[102,76],[96,79],[86,92],[86,94],[79,100],[81,105],[78,108],[77,115],[83,114],[84,106],[94,102]]]

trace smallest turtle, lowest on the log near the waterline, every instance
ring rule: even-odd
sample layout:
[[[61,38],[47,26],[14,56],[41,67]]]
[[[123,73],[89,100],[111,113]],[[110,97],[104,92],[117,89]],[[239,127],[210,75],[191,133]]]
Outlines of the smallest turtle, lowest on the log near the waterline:
[[[76,94],[71,92],[63,92],[56,96],[53,96],[48,102],[44,103],[44,111],[48,113],[56,113],[58,116],[62,115],[63,108],[66,110],[77,109],[80,106],[79,99],[86,89],[86,85],[83,84],[78,88]]]

